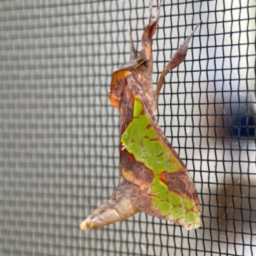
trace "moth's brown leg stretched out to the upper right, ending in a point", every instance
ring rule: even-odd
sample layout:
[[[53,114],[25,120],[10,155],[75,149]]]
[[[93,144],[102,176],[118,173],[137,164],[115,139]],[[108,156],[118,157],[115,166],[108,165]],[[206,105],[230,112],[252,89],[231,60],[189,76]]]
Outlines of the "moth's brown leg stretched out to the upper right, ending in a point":
[[[156,89],[156,93],[154,96],[154,100],[157,101],[159,93],[161,91],[161,88],[163,86],[164,83],[164,77],[166,76],[166,74],[169,72],[169,70],[171,70],[172,68],[175,68],[177,66],[180,65],[180,63],[182,63],[182,61],[184,61],[187,52],[188,52],[188,44],[189,41],[191,39],[191,37],[194,35],[196,29],[198,28],[198,26],[200,24],[202,24],[203,22],[200,21],[197,25],[196,28],[191,32],[191,34],[186,38],[186,40],[180,45],[179,49],[177,50],[177,52],[175,52],[175,54],[172,56],[171,60],[168,62],[168,64],[164,67],[161,76],[159,78],[158,84],[157,84],[157,89]]]

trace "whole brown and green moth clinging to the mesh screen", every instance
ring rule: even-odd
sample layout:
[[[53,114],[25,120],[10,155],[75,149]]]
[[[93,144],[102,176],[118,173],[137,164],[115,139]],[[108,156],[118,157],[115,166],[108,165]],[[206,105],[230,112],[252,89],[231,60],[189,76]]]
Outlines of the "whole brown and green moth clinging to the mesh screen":
[[[152,86],[152,37],[160,17],[161,1],[142,36],[141,52],[113,72],[109,100],[120,109],[120,178],[108,201],[100,205],[80,225],[97,228],[125,220],[139,211],[182,225],[187,230],[200,227],[200,204],[186,166],[172,148],[157,123],[154,112],[164,77],[185,58],[196,28],[180,45]]]

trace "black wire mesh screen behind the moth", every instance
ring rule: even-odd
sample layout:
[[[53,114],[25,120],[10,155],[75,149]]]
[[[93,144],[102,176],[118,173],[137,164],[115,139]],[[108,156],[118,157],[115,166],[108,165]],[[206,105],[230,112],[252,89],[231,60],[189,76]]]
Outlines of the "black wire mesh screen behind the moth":
[[[256,255],[253,0],[164,1],[154,37],[156,86],[204,22],[166,77],[156,113],[195,181],[202,226],[188,232],[140,212],[79,229],[118,184],[109,84],[131,59],[129,27],[140,49],[148,6],[0,2],[1,255]]]

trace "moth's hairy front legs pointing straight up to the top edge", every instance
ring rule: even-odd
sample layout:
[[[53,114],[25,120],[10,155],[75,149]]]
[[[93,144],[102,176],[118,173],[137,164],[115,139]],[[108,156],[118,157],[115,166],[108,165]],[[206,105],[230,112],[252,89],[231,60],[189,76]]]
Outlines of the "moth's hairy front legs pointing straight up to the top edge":
[[[160,8],[161,8],[162,0],[159,0],[156,17],[153,22],[152,22],[152,10],[153,10],[152,2],[153,1],[151,1],[150,3],[150,15],[148,17],[148,24],[144,30],[144,33],[141,39],[142,50],[140,52],[140,58],[145,58],[147,60],[152,60],[152,37],[156,33],[157,23],[160,17]]]

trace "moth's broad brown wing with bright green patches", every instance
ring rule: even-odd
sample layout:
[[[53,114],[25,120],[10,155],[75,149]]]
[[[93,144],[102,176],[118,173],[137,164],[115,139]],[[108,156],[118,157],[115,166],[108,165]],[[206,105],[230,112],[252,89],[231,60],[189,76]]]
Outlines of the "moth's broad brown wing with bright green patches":
[[[200,204],[193,180],[143,98],[135,97],[133,119],[122,129],[120,191],[140,211],[188,230],[198,228]]]

